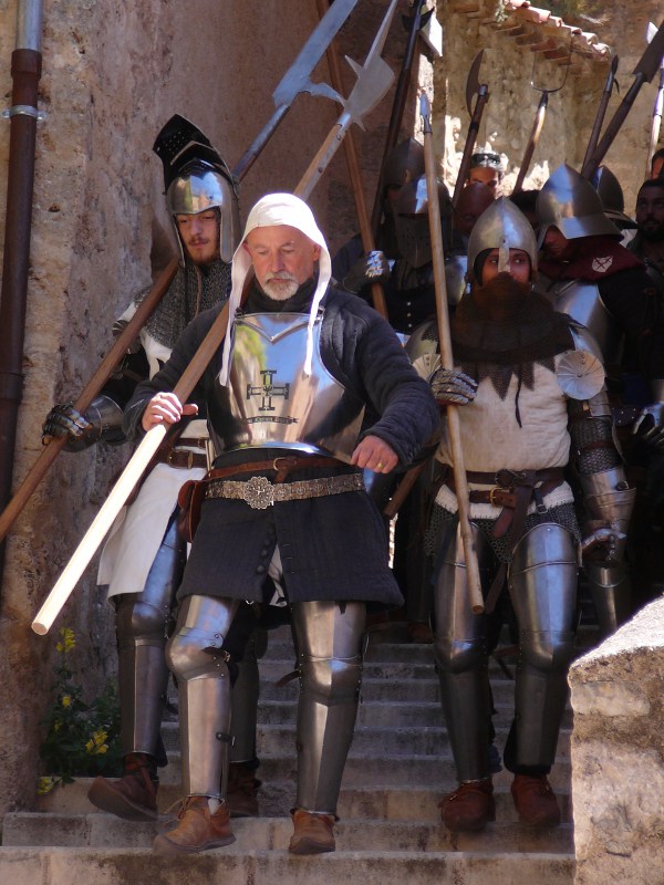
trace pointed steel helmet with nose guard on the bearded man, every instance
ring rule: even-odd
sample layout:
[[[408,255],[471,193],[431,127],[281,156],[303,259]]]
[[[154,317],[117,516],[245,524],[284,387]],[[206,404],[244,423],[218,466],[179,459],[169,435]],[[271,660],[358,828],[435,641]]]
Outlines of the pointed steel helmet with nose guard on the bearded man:
[[[477,257],[487,250],[499,249],[498,268],[505,270],[509,250],[520,249],[530,259],[532,273],[537,270],[537,241],[532,225],[507,197],[499,197],[479,216],[468,240],[468,269],[475,273]],[[477,275],[477,274],[476,274]]]

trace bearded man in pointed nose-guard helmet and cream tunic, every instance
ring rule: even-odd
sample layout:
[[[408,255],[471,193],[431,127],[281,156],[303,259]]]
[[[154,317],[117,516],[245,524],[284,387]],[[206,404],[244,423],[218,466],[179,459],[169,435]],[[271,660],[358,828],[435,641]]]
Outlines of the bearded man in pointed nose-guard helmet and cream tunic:
[[[500,198],[468,247],[470,293],[452,320],[454,369],[439,368],[432,324],[416,367],[442,404],[460,406],[469,514],[485,613],[468,600],[466,561],[447,426],[436,458],[445,467],[427,534],[434,559],[434,648],[459,787],[440,803],[453,831],[495,818],[489,768],[488,646],[505,584],[518,622],[515,719],[505,764],[520,819],[549,826],[560,809],[548,774],[556,758],[574,654],[581,533],[564,470],[579,475],[588,511],[584,546],[620,560],[633,491],[612,439],[604,372],[579,324],[532,291],[535,233]],[[423,336],[424,339],[424,336]]]

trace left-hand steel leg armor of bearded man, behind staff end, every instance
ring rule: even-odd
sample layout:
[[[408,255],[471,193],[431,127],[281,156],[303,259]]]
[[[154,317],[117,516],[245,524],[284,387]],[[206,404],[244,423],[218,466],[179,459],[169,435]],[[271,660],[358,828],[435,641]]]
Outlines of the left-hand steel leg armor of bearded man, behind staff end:
[[[497,568],[487,539],[471,525],[485,594]],[[491,699],[487,668],[485,615],[468,600],[466,559],[460,531],[450,521],[448,545],[434,591],[434,653],[440,698],[459,781],[489,777]]]

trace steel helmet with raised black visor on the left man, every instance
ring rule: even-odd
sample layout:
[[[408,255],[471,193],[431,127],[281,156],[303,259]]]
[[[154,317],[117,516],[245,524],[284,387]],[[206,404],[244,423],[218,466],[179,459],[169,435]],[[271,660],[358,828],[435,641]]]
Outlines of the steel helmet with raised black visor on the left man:
[[[166,205],[183,261],[186,248],[177,217],[212,209],[218,216],[218,257],[230,264],[240,225],[237,183],[226,163],[200,129],[178,114],[157,135],[153,149],[164,164]]]

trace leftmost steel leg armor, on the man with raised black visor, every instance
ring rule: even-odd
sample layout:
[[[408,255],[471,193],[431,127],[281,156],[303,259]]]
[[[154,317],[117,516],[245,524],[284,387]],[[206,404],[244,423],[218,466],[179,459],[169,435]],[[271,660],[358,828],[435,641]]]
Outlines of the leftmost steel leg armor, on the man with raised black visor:
[[[152,565],[145,589],[118,597],[115,613],[118,649],[122,752],[157,754],[168,683],[164,657],[166,629],[184,565],[184,545],[173,521]]]

